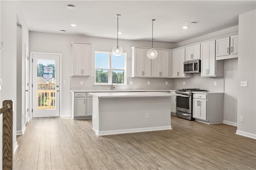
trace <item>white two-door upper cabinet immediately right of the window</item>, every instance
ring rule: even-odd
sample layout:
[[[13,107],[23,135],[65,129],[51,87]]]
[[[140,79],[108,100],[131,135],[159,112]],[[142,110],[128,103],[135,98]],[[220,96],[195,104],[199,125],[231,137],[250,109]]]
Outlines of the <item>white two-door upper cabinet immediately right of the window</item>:
[[[132,47],[132,77],[151,77],[151,60],[148,49]]]

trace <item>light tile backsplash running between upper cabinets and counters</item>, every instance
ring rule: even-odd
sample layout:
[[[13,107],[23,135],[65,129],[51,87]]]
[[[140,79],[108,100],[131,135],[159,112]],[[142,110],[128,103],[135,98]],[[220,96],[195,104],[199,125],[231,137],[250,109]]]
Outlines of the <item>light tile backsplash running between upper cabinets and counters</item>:
[[[110,90],[111,85],[94,85],[95,77],[70,77],[70,90]],[[80,82],[83,81],[83,85]],[[132,85],[129,82],[132,81]],[[148,85],[148,81],[150,84]],[[168,85],[166,85],[166,81]],[[214,82],[216,81],[216,85]],[[194,74],[191,78],[141,78],[127,77],[127,85],[114,85],[115,89],[142,90],[176,90],[184,88],[199,88],[210,92],[224,92],[224,77],[201,77]],[[183,85],[185,82],[185,85]]]

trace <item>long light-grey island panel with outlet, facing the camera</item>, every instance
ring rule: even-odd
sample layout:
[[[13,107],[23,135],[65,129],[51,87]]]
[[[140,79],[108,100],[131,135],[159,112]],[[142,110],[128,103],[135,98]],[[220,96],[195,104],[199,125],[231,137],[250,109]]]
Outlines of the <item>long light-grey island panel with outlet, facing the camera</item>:
[[[127,129],[171,129],[170,97],[99,98],[98,102],[99,132],[119,130],[109,132],[118,134]]]

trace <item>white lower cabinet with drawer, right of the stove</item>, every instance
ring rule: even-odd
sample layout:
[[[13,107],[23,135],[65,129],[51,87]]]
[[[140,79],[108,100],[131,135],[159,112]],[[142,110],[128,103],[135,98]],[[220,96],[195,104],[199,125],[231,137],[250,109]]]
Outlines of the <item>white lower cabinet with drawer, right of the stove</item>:
[[[223,123],[224,93],[193,93],[192,115],[195,121],[206,124]]]

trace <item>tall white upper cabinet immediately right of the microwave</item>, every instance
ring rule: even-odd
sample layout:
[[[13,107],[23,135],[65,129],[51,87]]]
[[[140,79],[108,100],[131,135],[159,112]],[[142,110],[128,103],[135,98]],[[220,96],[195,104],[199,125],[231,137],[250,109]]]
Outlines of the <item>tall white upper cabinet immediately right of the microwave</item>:
[[[202,77],[223,77],[224,62],[215,61],[215,41],[201,43],[201,76]],[[218,67],[216,67],[216,65]],[[216,69],[217,68],[217,69]]]

